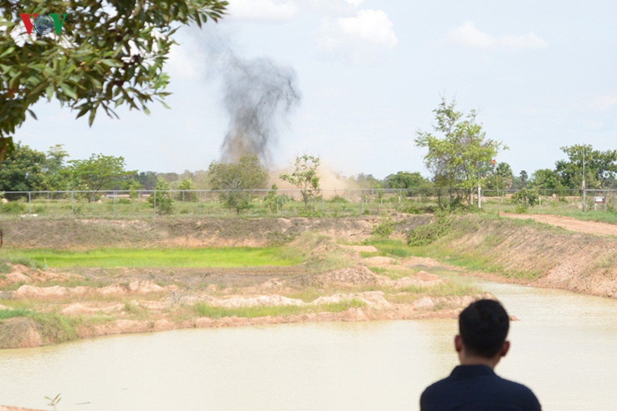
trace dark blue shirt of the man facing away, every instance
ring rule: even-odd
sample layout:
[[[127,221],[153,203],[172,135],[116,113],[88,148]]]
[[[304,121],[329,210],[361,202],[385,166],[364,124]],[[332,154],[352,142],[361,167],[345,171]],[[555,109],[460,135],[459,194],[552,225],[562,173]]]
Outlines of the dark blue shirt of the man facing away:
[[[459,365],[420,397],[421,411],[540,411],[531,389],[486,365]]]

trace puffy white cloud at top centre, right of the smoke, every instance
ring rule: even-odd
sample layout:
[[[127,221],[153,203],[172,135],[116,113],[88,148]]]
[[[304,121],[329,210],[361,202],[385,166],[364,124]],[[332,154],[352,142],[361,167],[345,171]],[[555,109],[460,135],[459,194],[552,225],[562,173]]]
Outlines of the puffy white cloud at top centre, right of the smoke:
[[[355,64],[372,64],[394,48],[397,38],[383,10],[359,10],[355,17],[324,19],[318,48]]]

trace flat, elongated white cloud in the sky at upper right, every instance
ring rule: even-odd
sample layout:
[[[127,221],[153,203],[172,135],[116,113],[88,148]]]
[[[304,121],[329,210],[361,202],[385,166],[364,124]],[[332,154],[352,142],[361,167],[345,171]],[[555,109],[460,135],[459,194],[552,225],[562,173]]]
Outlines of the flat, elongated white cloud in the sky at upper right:
[[[494,37],[478,30],[472,22],[465,22],[448,31],[445,41],[470,49],[542,49],[547,46],[546,42],[534,33]]]

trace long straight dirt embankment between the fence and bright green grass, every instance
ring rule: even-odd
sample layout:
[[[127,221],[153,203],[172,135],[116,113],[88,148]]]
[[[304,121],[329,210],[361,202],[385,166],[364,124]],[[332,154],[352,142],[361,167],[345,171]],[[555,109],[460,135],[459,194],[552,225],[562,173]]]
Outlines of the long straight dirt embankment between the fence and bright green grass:
[[[399,215],[398,235],[431,220],[430,215]],[[264,246],[287,243],[306,231],[358,243],[371,236],[381,217],[344,218],[151,218],[147,220],[79,220],[23,218],[4,220],[9,247],[209,247]]]

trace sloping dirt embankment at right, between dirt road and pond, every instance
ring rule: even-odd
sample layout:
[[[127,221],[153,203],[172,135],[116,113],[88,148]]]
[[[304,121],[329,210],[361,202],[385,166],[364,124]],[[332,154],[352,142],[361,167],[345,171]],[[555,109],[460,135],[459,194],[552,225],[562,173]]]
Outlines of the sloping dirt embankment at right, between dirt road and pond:
[[[589,223],[589,222],[585,222]],[[466,216],[436,247],[490,267],[496,280],[617,297],[617,238]],[[486,275],[486,274],[483,274]]]

